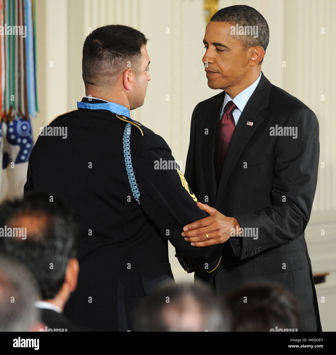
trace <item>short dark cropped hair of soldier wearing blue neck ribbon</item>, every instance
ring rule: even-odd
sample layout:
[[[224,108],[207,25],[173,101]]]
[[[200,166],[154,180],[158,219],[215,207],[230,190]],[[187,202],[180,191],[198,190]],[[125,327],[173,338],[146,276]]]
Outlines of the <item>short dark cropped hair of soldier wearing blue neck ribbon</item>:
[[[141,47],[147,38],[140,31],[120,24],[96,28],[83,45],[82,71],[85,86],[113,87],[118,74],[127,68],[135,70],[141,59]]]

